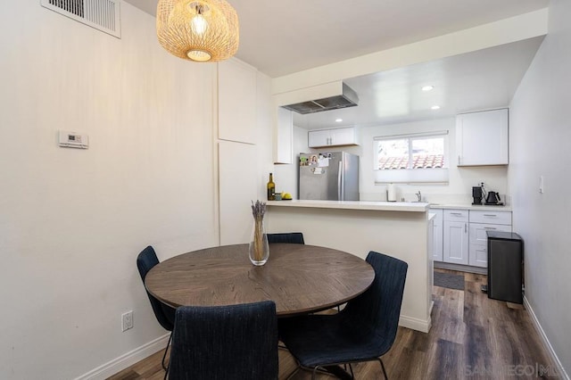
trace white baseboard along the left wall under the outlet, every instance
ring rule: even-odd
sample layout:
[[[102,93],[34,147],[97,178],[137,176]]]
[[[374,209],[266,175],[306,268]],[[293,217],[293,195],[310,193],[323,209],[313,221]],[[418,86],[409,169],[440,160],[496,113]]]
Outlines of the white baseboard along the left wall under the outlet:
[[[76,377],[75,380],[104,380],[116,373],[128,368],[142,359],[148,358],[153,353],[164,350],[169,342],[170,333],[163,335],[149,343],[137,347],[133,351],[129,351],[119,358],[112,359],[111,361],[103,364],[98,368],[92,369],[87,374]]]

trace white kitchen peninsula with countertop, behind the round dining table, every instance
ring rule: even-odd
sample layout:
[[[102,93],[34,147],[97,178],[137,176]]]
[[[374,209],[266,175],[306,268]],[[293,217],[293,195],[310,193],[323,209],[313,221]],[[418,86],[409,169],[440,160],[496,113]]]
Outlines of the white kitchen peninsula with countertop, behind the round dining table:
[[[271,201],[268,206],[269,233],[300,231],[306,244],[350,252],[362,259],[375,251],[406,261],[409,271],[400,325],[428,332],[433,282],[428,203]]]

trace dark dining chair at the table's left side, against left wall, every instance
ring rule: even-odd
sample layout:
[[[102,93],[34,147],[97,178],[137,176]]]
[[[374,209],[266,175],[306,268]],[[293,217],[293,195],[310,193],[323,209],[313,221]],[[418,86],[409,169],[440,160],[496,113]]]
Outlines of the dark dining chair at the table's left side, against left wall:
[[[154,252],[154,249],[151,245],[147,246],[142,252],[139,253],[137,256],[137,268],[139,269],[139,275],[141,275],[141,279],[143,280],[143,285],[145,285],[146,274],[158,263],[159,259],[157,258],[157,254]],[[169,342],[167,343],[167,347],[164,349],[164,354],[162,355],[161,362],[162,368],[166,371],[167,365],[165,364],[165,359],[167,358],[167,351],[169,350],[170,339],[172,338],[172,329],[175,324],[175,310],[154,298],[151,293],[146,291],[146,288],[145,292],[149,297],[154,316],[159,321],[159,324],[165,330],[170,331]]]

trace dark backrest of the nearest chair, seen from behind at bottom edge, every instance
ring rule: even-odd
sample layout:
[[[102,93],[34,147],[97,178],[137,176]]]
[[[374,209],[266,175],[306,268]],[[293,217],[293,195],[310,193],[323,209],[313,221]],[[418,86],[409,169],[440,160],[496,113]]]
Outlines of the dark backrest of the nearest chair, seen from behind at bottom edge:
[[[276,304],[181,306],[170,350],[170,380],[277,379]]]

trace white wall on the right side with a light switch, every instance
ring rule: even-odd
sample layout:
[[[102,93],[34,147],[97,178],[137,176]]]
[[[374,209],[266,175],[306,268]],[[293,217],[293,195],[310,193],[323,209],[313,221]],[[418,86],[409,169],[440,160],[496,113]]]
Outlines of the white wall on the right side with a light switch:
[[[567,373],[571,371],[570,17],[571,3],[551,0],[549,34],[514,96],[509,136],[513,225],[525,242],[525,297]]]

